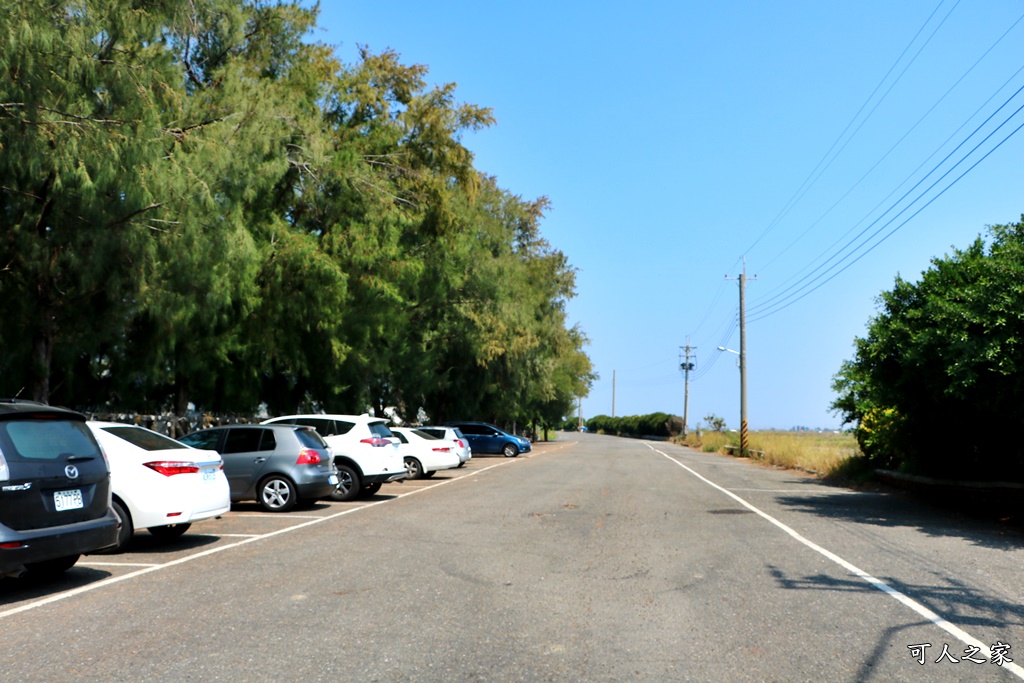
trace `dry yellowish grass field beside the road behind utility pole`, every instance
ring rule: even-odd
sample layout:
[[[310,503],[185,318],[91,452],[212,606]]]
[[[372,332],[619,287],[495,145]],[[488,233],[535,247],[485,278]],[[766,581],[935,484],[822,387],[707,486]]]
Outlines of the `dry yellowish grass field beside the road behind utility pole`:
[[[703,453],[725,453],[724,446],[739,445],[739,434],[702,432],[699,439],[690,434],[686,445]],[[754,431],[748,447],[763,452],[755,457],[769,465],[821,476],[845,476],[861,459],[857,440],[846,433]]]

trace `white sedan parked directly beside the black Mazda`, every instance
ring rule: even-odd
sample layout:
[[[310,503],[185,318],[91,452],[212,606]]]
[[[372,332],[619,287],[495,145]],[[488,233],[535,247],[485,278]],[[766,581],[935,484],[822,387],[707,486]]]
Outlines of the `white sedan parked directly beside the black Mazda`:
[[[121,552],[135,531],[176,539],[193,522],[231,509],[224,465],[216,451],[193,449],[155,431],[117,422],[89,422],[111,465],[111,505],[121,517]]]

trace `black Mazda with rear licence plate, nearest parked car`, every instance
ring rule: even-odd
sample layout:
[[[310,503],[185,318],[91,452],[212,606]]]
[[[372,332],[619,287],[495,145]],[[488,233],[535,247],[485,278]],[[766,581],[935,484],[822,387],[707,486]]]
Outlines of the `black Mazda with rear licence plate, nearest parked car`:
[[[85,416],[0,400],[0,577],[55,577],[114,546],[106,458]]]

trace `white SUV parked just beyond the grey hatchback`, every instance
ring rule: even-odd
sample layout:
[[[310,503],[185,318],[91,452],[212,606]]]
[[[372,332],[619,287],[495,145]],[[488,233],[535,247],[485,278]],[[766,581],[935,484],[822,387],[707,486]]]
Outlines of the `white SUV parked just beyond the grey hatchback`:
[[[338,486],[331,498],[351,501],[373,496],[389,482],[406,478],[398,440],[387,421],[369,415],[286,415],[263,422],[313,427],[334,455]]]

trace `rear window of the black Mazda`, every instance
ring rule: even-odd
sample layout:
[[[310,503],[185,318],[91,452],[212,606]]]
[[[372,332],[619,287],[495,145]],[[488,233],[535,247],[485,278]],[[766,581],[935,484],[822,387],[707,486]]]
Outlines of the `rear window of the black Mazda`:
[[[0,452],[8,459],[22,460],[100,457],[96,439],[85,423],[68,420],[2,421]]]

